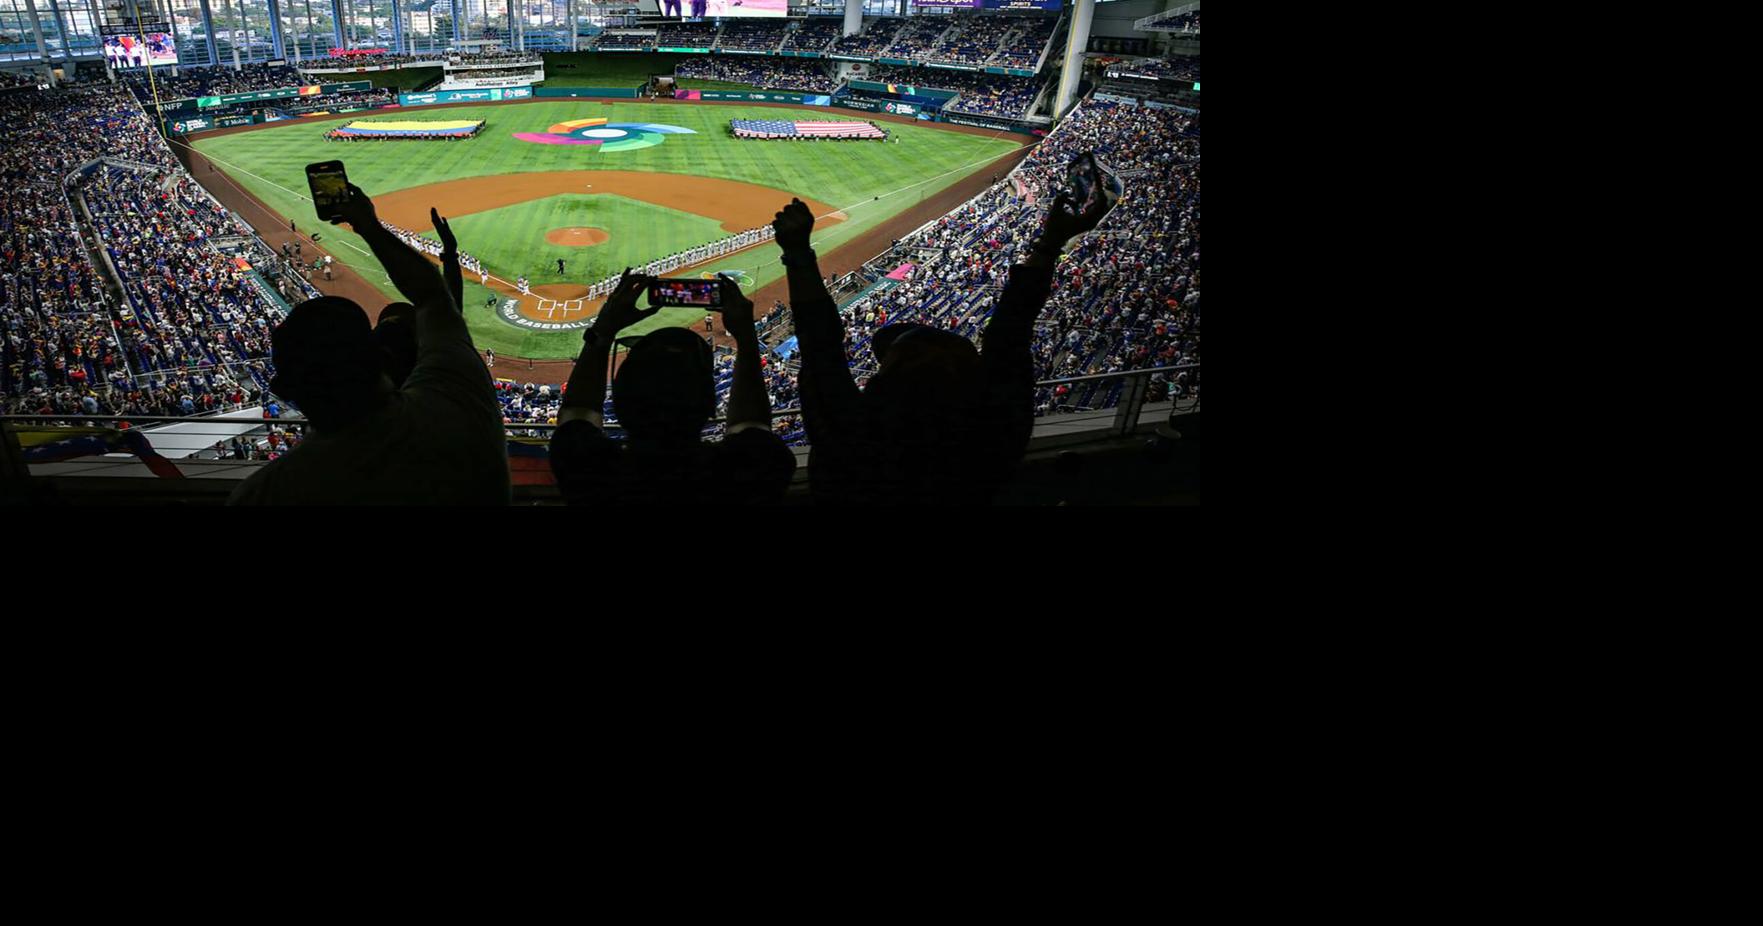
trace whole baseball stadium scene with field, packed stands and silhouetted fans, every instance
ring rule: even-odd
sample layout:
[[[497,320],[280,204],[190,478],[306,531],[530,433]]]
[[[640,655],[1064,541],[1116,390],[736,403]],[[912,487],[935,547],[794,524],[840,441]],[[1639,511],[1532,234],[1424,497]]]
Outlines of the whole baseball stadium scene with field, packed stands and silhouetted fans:
[[[1171,0],[0,0],[7,504],[1199,504]]]

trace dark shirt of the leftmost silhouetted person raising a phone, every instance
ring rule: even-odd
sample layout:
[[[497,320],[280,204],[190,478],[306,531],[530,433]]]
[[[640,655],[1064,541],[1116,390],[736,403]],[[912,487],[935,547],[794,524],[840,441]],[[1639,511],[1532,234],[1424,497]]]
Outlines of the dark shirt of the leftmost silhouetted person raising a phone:
[[[451,307],[416,307],[416,367],[347,429],[312,432],[229,504],[508,504],[508,441],[490,372]]]

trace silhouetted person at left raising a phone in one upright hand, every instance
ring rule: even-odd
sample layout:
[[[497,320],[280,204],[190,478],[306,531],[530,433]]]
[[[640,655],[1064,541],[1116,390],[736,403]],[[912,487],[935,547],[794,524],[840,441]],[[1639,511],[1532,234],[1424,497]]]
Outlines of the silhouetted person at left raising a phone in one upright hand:
[[[349,185],[342,217],[416,317],[416,369],[391,385],[360,305],[323,296],[275,330],[272,388],[310,434],[233,492],[234,504],[508,504],[508,450],[490,374],[441,273],[381,228]]]

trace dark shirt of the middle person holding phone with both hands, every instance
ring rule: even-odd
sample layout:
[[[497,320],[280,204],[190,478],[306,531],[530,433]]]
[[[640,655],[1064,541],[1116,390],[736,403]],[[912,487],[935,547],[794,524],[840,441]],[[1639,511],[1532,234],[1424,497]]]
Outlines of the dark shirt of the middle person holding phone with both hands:
[[[770,504],[795,473],[795,453],[765,429],[675,450],[614,441],[584,420],[557,427],[550,462],[569,504]]]

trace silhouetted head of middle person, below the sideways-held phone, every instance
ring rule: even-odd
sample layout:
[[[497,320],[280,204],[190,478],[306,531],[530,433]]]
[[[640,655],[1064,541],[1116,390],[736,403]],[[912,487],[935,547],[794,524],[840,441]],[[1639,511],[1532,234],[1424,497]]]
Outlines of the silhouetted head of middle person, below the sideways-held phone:
[[[656,328],[631,347],[612,381],[612,407],[631,437],[696,441],[716,414],[710,346],[686,328]]]

